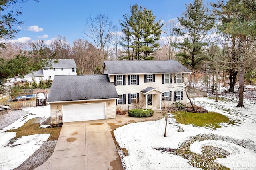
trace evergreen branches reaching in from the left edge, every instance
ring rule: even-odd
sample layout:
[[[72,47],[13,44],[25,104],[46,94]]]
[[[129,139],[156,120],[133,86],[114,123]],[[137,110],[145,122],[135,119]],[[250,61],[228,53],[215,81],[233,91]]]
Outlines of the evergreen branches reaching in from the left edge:
[[[0,48],[5,47],[6,40],[15,38],[18,30],[17,26],[22,24],[18,21],[18,16],[22,14],[21,4],[27,0],[4,0],[0,2]],[[38,0],[35,0],[38,2]],[[20,52],[15,58],[0,58],[0,80],[8,79],[15,76],[24,76],[38,71],[51,63],[55,53],[49,56],[43,55],[44,48],[34,49],[28,53]],[[42,60],[45,59],[45,60]]]

